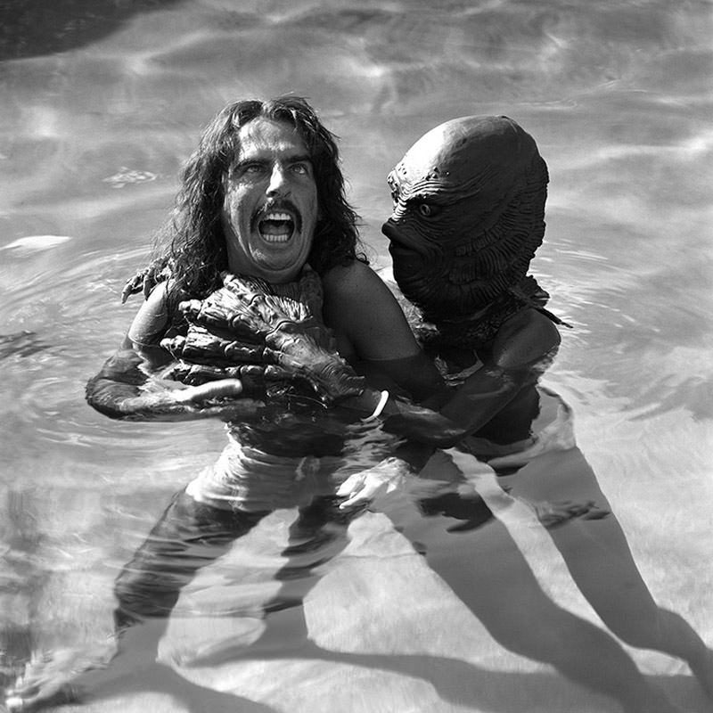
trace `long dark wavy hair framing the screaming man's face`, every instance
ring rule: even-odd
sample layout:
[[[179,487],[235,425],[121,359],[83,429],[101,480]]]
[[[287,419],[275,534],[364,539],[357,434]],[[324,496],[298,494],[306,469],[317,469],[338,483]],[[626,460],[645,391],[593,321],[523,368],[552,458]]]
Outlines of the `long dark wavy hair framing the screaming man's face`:
[[[287,95],[228,104],[201,135],[198,149],[184,167],[183,183],[168,224],[159,234],[153,268],[164,268],[173,289],[204,298],[221,286],[228,268],[221,211],[223,176],[240,150],[241,127],[253,119],[283,121],[295,128],[314,168],[319,217],[307,258],[319,275],[347,265],[357,255],[359,217],[349,205],[340,169],[336,136],[326,129],[307,101]],[[168,269],[167,269],[168,268]]]

